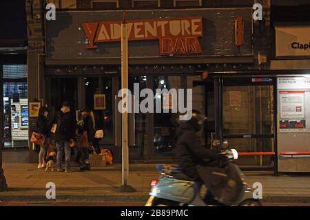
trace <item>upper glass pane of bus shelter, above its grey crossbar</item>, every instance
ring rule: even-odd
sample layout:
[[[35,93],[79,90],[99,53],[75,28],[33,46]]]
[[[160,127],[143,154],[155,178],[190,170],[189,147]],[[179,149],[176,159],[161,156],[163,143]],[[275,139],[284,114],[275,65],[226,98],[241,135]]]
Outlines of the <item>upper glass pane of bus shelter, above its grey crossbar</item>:
[[[273,133],[273,87],[225,86],[223,122],[227,135]]]

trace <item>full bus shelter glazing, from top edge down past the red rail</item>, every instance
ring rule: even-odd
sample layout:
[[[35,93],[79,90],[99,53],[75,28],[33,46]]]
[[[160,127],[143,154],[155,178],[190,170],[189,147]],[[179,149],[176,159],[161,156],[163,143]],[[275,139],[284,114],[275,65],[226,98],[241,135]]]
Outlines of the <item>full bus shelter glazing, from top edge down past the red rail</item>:
[[[223,81],[223,139],[238,152],[273,152],[272,79],[237,78]],[[270,166],[270,156],[243,156],[238,163]]]

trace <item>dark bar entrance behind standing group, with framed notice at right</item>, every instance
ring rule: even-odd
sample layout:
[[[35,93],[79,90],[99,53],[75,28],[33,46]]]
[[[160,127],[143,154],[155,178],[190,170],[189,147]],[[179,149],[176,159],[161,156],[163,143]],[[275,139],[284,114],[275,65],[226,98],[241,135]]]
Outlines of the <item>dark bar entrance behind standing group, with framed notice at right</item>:
[[[50,77],[46,82],[46,94],[50,115],[60,111],[63,101],[68,101],[71,111],[83,108],[94,112],[96,129],[103,129],[104,138],[99,146],[113,145],[113,90],[112,77],[70,76]]]

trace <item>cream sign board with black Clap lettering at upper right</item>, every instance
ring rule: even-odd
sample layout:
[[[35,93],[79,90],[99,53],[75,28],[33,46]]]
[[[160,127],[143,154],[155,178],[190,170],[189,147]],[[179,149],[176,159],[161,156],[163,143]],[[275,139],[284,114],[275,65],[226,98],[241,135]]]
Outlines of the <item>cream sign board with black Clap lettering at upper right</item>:
[[[276,56],[310,56],[310,26],[276,27]]]

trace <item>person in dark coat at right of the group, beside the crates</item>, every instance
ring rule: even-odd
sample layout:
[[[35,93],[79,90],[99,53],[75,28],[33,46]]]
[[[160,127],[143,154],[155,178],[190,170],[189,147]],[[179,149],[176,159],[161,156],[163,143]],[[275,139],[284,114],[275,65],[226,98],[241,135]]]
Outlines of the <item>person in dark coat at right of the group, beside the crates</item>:
[[[89,162],[89,147],[94,142],[94,123],[91,117],[91,111],[90,109],[83,109],[81,111],[83,120],[78,122],[78,135],[83,135],[83,132],[87,132],[87,146],[79,146],[79,151],[81,152],[83,156],[83,162],[84,166],[81,167],[81,170],[90,170],[90,162]]]

